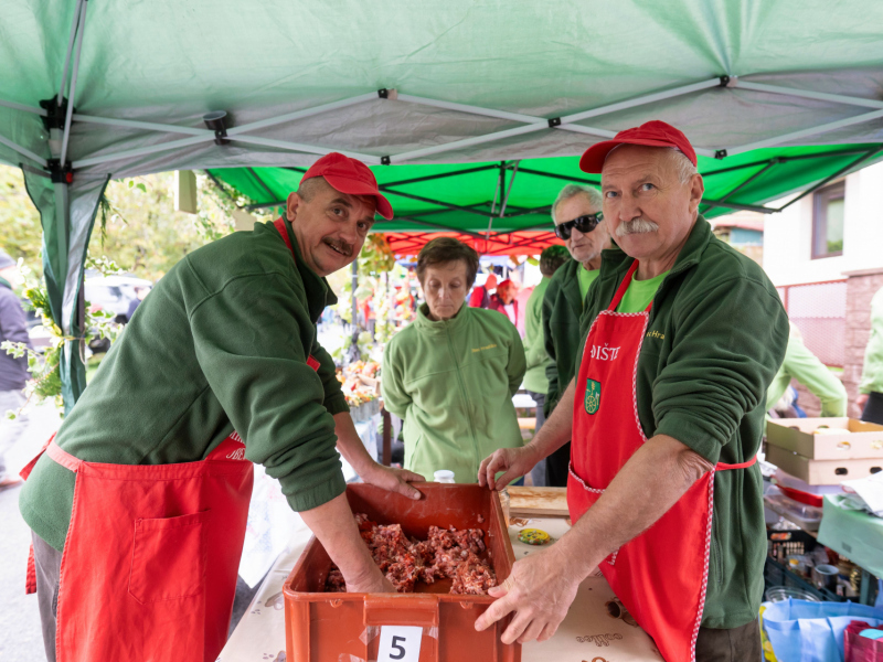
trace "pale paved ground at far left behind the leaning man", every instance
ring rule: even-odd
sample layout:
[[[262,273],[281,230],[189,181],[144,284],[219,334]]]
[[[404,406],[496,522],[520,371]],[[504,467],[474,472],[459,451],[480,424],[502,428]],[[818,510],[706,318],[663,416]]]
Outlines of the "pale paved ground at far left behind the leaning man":
[[[23,467],[60,423],[52,405],[34,410],[24,435],[7,455],[8,467],[15,470]],[[19,514],[20,490],[0,492],[0,662],[45,660],[36,596],[24,595],[31,530]]]

